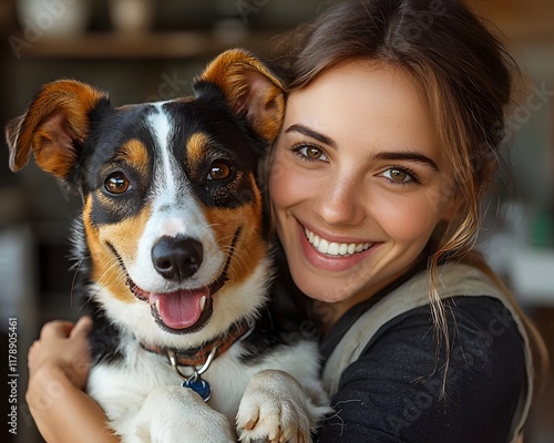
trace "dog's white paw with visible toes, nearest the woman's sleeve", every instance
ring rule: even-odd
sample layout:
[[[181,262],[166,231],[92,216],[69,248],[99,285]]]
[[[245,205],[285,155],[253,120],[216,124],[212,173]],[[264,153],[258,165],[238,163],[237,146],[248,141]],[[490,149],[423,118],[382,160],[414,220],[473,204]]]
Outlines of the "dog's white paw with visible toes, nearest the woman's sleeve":
[[[249,381],[237,414],[237,432],[244,443],[309,443],[319,419],[302,387],[288,373],[266,370]]]

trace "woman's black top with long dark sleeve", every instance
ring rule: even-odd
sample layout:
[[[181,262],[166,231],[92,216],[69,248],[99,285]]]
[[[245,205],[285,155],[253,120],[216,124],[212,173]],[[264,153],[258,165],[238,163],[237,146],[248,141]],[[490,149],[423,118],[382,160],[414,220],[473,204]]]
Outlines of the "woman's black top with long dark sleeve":
[[[321,342],[324,359],[376,301],[352,308],[335,324]],[[507,442],[526,383],[517,327],[494,298],[443,301],[451,341],[447,373],[445,347],[438,349],[430,307],[394,318],[343,371],[331,401],[335,413],[314,435],[315,442]]]

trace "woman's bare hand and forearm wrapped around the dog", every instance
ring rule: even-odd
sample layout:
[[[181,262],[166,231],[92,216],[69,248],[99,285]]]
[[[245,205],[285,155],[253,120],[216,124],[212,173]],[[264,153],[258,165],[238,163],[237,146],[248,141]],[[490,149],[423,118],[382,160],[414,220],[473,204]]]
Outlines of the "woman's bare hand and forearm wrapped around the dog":
[[[91,356],[89,317],[51,321],[29,349],[27,403],[49,443],[120,442],[100,405],[83,389]]]

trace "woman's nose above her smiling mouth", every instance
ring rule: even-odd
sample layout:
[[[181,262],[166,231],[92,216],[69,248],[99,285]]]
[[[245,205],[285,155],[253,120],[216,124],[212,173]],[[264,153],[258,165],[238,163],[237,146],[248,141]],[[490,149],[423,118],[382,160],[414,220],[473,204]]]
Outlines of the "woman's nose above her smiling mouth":
[[[329,177],[319,189],[316,212],[329,226],[356,226],[365,217],[363,181],[353,177]]]

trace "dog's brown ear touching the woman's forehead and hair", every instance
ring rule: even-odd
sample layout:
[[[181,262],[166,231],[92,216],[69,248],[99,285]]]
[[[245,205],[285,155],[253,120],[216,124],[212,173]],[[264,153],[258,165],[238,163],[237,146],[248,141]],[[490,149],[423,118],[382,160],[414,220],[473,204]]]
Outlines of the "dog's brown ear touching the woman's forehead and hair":
[[[254,130],[273,141],[285,114],[285,87],[257,56],[232,49],[214,59],[193,84],[196,96],[205,83],[216,84],[237,114],[245,115]]]

